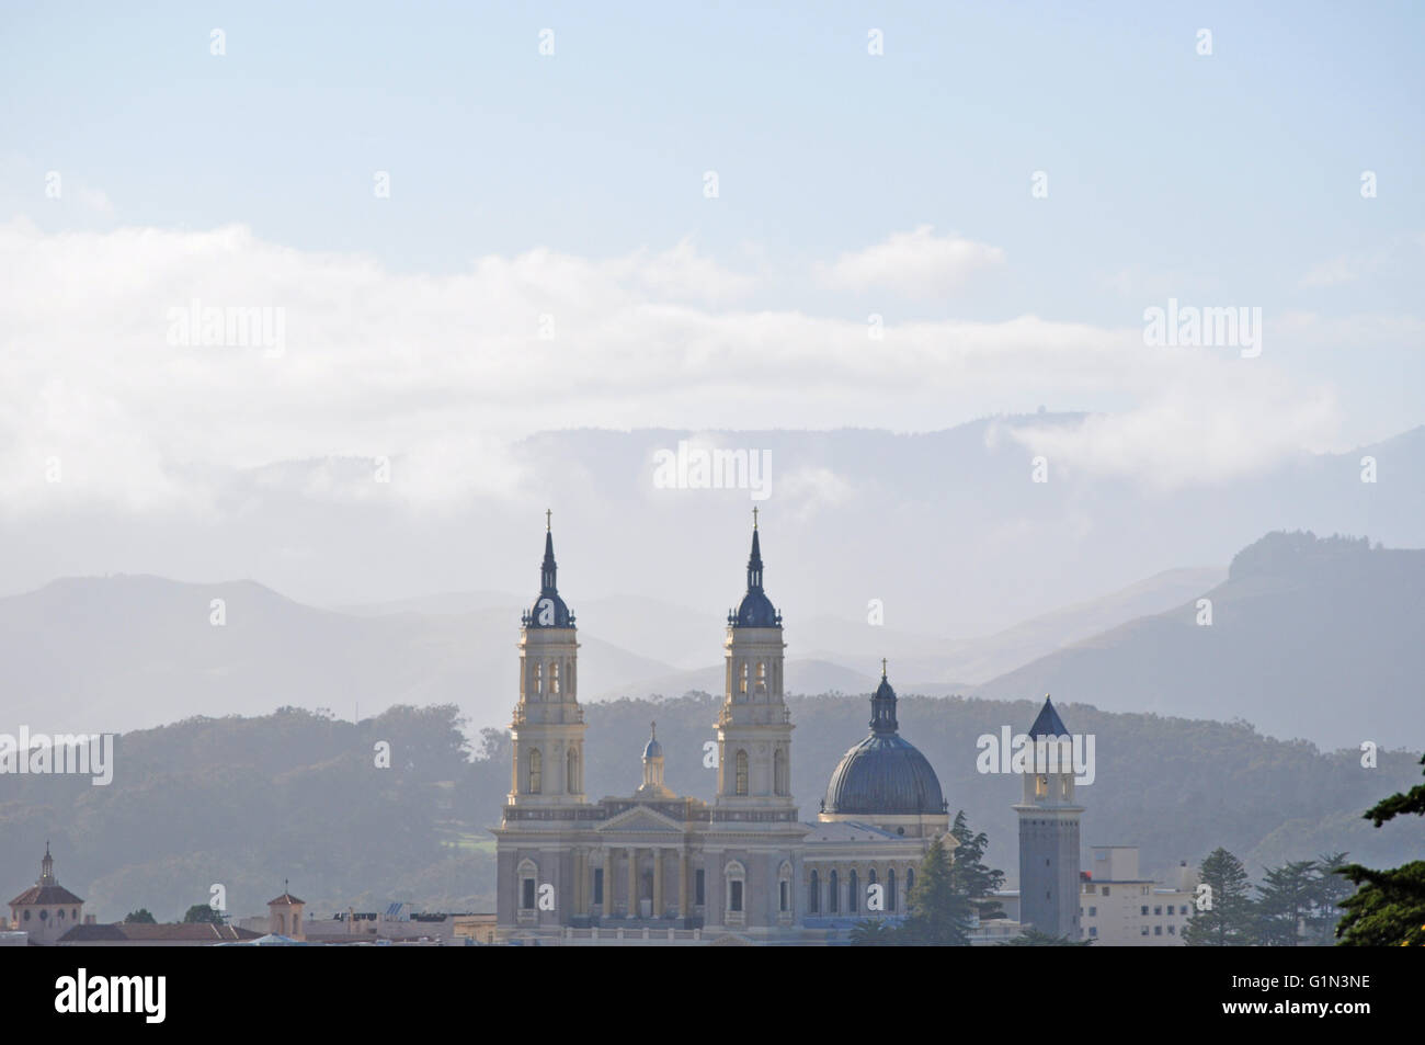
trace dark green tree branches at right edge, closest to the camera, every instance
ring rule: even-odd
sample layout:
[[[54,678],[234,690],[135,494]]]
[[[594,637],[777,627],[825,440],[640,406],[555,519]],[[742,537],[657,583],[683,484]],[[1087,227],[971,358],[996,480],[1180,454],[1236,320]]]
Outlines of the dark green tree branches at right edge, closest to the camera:
[[[1425,766],[1425,757],[1421,757]],[[1402,813],[1425,815],[1425,784],[1382,798],[1364,814],[1375,827]],[[1425,860],[1391,871],[1348,864],[1341,874],[1357,891],[1341,901],[1345,917],[1337,925],[1341,947],[1425,947]]]

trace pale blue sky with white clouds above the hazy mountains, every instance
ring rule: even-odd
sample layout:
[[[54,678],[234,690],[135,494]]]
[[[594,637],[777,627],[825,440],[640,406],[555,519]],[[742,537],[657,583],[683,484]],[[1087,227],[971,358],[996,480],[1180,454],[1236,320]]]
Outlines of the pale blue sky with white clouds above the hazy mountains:
[[[1422,21],[6,4],[0,515],[202,518],[342,455],[423,510],[580,426],[1046,406],[1090,416],[1027,451],[1149,488],[1385,439],[1425,421]],[[1260,352],[1146,344],[1170,299],[1260,309]],[[281,344],[194,344],[192,302]]]

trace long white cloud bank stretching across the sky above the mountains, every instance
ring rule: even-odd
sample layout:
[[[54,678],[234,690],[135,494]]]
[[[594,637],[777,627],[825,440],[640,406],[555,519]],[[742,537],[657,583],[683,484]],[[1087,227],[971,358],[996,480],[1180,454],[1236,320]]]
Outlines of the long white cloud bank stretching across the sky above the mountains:
[[[861,322],[735,307],[752,277],[688,242],[608,259],[540,248],[423,275],[238,225],[47,234],[14,221],[0,225],[0,272],[11,515],[202,515],[255,475],[259,490],[428,512],[517,496],[504,448],[584,426],[932,431],[1052,403],[1123,416],[1072,441],[1026,439],[1151,482],[1335,435],[1327,401],[1298,395],[1265,356],[1153,351],[1139,328],[1032,315],[891,325],[872,341]],[[281,309],[284,349],[171,344],[171,314],[194,302]],[[376,489],[382,458],[389,485]],[[788,479],[809,502],[844,493],[831,473]]]

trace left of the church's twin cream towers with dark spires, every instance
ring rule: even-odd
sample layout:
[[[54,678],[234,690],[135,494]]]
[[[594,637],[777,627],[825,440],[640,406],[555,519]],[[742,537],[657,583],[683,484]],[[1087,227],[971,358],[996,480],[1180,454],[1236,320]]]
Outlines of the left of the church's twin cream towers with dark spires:
[[[520,622],[520,701],[510,723],[514,744],[510,805],[586,801],[579,640],[574,614],[559,597],[550,516],[544,513],[539,599]]]

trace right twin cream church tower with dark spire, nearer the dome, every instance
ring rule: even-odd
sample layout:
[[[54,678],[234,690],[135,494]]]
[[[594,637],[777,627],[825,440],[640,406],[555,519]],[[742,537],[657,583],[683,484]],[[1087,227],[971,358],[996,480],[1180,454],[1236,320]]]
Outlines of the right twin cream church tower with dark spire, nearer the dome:
[[[792,721],[782,700],[782,614],[762,590],[762,547],[752,509],[747,594],[727,614],[722,710],[717,720],[717,804],[795,813]],[[795,818],[795,815],[792,817]]]

